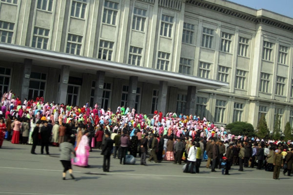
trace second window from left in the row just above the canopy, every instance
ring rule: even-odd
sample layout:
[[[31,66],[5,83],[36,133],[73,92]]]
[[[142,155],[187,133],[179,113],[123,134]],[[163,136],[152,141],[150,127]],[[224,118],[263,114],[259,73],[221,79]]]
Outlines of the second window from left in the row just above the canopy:
[[[40,49],[48,49],[49,30],[43,28],[34,28],[34,35],[32,41],[32,47]]]

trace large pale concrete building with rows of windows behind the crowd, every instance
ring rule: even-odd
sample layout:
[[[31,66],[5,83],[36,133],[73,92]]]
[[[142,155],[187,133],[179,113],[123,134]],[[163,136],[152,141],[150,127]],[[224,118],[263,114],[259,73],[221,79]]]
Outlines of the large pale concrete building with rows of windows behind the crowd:
[[[0,92],[293,126],[293,19],[227,0],[1,0]]]

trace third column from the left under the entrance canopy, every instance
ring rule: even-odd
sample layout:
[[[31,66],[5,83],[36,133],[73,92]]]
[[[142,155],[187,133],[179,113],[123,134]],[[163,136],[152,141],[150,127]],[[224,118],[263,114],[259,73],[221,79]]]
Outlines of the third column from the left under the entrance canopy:
[[[103,100],[105,72],[97,71],[95,80],[96,80],[96,86],[95,86],[94,105],[97,103],[98,106],[101,108],[102,100]],[[104,108],[104,109],[106,110],[107,108]]]

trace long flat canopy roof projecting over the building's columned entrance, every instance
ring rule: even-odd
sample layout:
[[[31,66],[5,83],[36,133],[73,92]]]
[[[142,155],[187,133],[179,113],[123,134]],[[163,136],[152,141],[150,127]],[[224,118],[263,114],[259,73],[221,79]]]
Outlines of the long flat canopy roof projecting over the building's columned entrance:
[[[82,71],[83,73],[89,74],[95,74],[95,71],[105,71],[105,76],[112,78],[127,79],[130,76],[137,76],[139,82],[153,84],[159,84],[160,81],[167,81],[168,86],[182,89],[187,89],[187,86],[196,86],[200,90],[218,89],[229,85],[228,83],[217,80],[198,78],[174,72],[0,43],[0,60],[23,63],[24,59],[32,59],[33,65],[58,69],[62,65],[68,65],[70,66],[70,71]]]

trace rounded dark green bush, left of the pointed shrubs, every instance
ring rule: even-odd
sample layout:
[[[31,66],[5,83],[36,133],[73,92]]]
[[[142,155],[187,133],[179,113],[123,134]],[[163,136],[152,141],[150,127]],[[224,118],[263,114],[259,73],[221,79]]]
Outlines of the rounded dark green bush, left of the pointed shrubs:
[[[234,135],[245,135],[248,137],[254,136],[254,128],[252,124],[247,122],[233,122],[226,125],[226,129],[230,129],[231,134]]]

